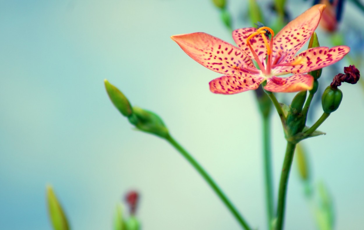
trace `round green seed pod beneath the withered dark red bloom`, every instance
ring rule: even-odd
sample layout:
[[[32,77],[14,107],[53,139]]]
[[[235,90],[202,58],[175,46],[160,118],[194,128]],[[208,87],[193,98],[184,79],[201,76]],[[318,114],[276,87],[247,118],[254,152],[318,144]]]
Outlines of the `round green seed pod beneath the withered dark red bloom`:
[[[322,95],[322,108],[325,113],[329,114],[339,108],[343,99],[343,92],[339,89],[333,89],[328,86]]]

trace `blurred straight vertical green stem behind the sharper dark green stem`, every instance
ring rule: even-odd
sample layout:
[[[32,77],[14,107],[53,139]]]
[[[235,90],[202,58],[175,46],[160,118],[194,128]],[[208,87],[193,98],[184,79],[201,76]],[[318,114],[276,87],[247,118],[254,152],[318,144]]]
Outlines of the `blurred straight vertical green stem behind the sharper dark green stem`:
[[[272,163],[270,159],[270,116],[263,117],[263,160],[264,160],[264,179],[265,179],[265,196],[266,211],[268,218],[268,229],[272,229],[273,221],[273,185],[272,185]]]

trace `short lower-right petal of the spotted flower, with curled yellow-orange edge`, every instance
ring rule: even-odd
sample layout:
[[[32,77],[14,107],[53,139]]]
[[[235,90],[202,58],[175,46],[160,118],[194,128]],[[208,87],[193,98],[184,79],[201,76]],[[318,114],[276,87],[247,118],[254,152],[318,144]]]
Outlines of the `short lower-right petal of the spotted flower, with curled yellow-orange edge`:
[[[296,74],[287,78],[273,76],[267,79],[265,90],[270,92],[298,92],[302,90],[312,90],[313,77],[309,74]]]

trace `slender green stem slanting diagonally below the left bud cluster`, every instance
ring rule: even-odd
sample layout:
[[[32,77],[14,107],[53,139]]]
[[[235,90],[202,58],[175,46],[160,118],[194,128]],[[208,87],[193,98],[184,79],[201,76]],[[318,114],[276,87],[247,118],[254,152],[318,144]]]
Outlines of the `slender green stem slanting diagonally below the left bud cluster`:
[[[222,192],[219,186],[214,182],[214,180],[210,177],[209,174],[202,168],[202,166],[179,144],[176,140],[174,140],[171,136],[168,136],[166,140],[175,147],[183,157],[198,171],[198,173],[205,179],[205,181],[211,186],[211,188],[215,191],[221,201],[226,205],[227,209],[234,215],[236,220],[240,223],[240,225],[246,230],[252,230],[239,211],[234,207],[234,205],[230,202],[230,200],[226,197],[226,195]]]

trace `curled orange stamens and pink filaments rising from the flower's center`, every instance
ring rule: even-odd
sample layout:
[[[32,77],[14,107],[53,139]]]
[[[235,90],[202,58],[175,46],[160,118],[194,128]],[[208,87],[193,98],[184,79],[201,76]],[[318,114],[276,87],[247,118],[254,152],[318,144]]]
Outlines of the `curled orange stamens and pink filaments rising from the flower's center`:
[[[268,43],[268,39],[266,36],[266,31],[269,31],[272,36],[270,37],[270,42]],[[267,67],[264,68],[263,63],[261,62],[261,60],[259,59],[257,53],[254,51],[252,44],[250,43],[250,40],[255,37],[256,35],[261,35],[265,47],[267,48],[267,56],[268,56],[268,60],[267,60]],[[271,69],[271,65],[272,65],[272,47],[273,47],[273,36],[274,36],[274,32],[273,29],[263,26],[260,27],[259,29],[257,29],[256,32],[252,33],[247,39],[246,39],[246,44],[249,45],[250,51],[252,51],[252,55],[254,56],[254,59],[256,60],[260,70],[262,71],[262,73],[265,76],[269,76],[270,75],[270,69]]]

